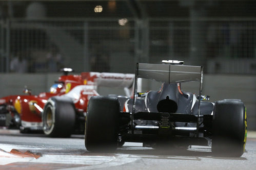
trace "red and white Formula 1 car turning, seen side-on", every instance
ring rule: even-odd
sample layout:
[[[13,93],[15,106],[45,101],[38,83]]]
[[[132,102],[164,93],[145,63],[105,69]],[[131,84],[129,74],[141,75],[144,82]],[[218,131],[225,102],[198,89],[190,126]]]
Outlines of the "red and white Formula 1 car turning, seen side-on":
[[[108,72],[82,72],[64,68],[50,92],[31,95],[11,95],[0,99],[0,126],[19,128],[22,133],[42,132],[50,137],[68,137],[84,133],[87,104],[91,96],[99,95],[97,87],[123,87],[132,94],[134,75]],[[130,88],[130,89],[129,89]]]

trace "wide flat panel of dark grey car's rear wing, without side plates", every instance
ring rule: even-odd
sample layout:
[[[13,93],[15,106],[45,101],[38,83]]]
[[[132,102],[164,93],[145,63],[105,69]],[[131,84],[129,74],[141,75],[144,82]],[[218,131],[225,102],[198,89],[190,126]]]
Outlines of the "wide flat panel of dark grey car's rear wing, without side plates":
[[[202,67],[137,63],[135,78],[151,79],[165,83],[201,81]]]

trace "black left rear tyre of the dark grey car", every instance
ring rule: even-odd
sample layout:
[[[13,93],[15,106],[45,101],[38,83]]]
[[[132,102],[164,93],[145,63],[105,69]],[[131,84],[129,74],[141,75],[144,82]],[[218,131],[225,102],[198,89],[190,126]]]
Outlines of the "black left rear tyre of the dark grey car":
[[[85,124],[85,147],[92,152],[111,152],[118,146],[120,104],[113,96],[90,98]]]

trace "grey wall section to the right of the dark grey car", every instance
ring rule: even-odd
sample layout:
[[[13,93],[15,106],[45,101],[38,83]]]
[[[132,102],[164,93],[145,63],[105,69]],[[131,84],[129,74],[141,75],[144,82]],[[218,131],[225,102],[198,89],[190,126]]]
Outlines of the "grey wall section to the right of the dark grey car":
[[[248,129],[256,130],[255,75],[206,75],[203,92],[211,96],[211,101],[241,99],[247,109]]]

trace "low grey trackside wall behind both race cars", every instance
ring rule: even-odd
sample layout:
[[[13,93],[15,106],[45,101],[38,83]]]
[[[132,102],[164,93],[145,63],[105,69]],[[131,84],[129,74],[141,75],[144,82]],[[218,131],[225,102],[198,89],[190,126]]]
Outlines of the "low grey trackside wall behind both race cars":
[[[49,91],[62,74],[0,74],[0,98],[23,95],[27,86],[32,94]],[[142,92],[160,89],[161,84],[142,81]],[[199,83],[183,83],[184,91],[198,95]],[[123,89],[99,87],[99,94],[125,94]],[[241,99],[247,108],[248,130],[256,130],[256,76],[255,75],[204,75],[202,94],[210,95],[210,102],[222,99]]]

